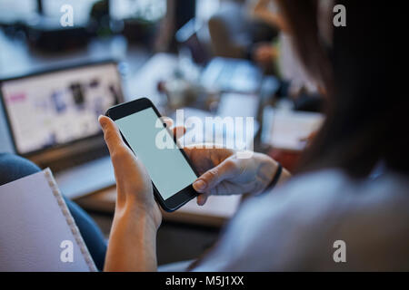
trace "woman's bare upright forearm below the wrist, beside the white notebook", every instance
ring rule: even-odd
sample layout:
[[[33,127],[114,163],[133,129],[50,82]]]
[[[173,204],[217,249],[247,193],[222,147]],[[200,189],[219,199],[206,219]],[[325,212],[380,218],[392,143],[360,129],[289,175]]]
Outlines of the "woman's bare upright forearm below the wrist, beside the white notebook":
[[[156,269],[156,226],[153,218],[144,210],[115,210],[104,270]]]

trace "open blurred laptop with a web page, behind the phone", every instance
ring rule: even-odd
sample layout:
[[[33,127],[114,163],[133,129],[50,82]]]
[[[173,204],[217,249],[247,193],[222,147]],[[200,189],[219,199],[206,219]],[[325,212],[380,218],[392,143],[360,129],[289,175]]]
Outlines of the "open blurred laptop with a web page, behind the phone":
[[[49,167],[63,194],[79,198],[115,184],[97,118],[124,102],[117,63],[82,63],[0,80],[15,153]]]

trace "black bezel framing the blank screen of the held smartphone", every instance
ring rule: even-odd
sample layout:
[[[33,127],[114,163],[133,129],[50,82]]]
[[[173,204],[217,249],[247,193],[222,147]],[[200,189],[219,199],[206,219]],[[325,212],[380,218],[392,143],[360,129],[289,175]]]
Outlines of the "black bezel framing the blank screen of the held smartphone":
[[[131,102],[125,102],[125,103],[115,105],[114,107],[109,108],[108,111],[106,111],[105,115],[115,121],[115,120],[124,118],[126,116],[129,116],[131,114],[134,114],[135,112],[143,111],[148,108],[152,108],[155,111],[155,114],[157,115],[158,118],[162,117],[160,112],[156,109],[154,103],[151,102],[147,98],[140,98],[140,99],[136,99]],[[164,125],[164,128],[169,131],[169,128],[165,127],[165,125]],[[171,136],[173,135],[173,132],[169,131],[169,133],[171,134]],[[122,135],[123,140],[125,141],[125,144],[132,150],[128,142],[125,140],[124,135],[122,133],[121,135]],[[176,140],[175,140],[175,143],[178,149],[182,152],[187,163],[194,170],[196,177],[199,177],[197,170],[192,164],[192,161],[189,160],[189,158],[187,157],[185,150],[183,150],[180,146],[178,146]],[[177,208],[180,208],[183,205],[185,205],[185,203],[187,203],[189,200],[198,196],[198,193],[195,191],[192,184],[190,184],[185,189],[182,189],[179,192],[175,193],[172,197],[164,199],[162,198],[159,191],[156,189],[154,182],[152,182],[152,185],[154,187],[154,195],[155,195],[156,201],[167,212],[175,211]]]

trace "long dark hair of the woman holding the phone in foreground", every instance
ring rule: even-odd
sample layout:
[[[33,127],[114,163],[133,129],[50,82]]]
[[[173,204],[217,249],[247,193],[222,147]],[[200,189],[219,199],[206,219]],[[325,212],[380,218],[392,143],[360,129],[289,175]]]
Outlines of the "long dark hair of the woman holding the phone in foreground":
[[[325,0],[326,1],[326,0]],[[409,99],[387,92],[388,32],[384,4],[337,1],[346,8],[346,26],[334,27],[325,47],[320,37],[317,0],[280,0],[302,63],[327,95],[326,120],[305,150],[299,171],[344,169],[365,177],[379,161],[409,173]],[[332,7],[331,7],[332,10]],[[328,19],[333,25],[333,18]]]

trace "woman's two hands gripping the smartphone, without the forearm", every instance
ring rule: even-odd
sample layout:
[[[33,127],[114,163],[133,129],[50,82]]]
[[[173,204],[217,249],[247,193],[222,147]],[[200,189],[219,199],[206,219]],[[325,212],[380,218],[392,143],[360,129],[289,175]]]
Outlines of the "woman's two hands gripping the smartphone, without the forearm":
[[[144,165],[125,145],[114,121],[105,116],[101,116],[99,121],[115,169],[117,206],[132,201],[136,208],[149,209],[155,225],[159,227],[161,214]],[[171,119],[165,119],[165,122],[172,126]],[[185,128],[174,128],[176,138],[184,133]],[[234,150],[209,148],[205,144],[187,146],[184,150],[201,175],[193,184],[194,189],[201,193],[197,197],[198,205],[204,205],[210,195],[260,193],[273,179],[277,169],[277,162],[261,153],[254,152],[249,159],[239,159]],[[287,177],[289,173],[284,170],[283,179]]]

